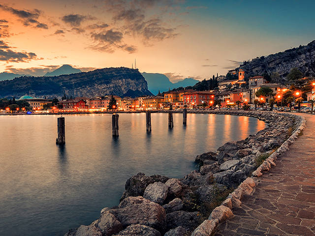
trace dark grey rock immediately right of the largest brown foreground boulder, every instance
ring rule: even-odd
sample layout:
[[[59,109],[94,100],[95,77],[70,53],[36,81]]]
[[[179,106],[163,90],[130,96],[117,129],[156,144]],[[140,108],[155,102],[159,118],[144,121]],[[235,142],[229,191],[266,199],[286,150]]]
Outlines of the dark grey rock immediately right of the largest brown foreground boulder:
[[[201,222],[201,214],[197,211],[187,212],[183,210],[166,214],[167,229],[174,229],[182,226],[188,231],[194,230]]]

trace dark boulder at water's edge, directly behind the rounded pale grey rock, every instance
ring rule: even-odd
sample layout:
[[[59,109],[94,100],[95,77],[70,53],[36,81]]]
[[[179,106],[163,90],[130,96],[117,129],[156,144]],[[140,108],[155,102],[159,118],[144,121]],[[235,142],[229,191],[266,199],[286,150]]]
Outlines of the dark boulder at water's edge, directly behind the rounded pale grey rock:
[[[143,173],[138,173],[137,175],[130,177],[125,184],[125,192],[120,201],[124,200],[126,197],[137,197],[143,196],[146,187],[154,182],[165,183],[169,178],[164,176],[146,176]]]

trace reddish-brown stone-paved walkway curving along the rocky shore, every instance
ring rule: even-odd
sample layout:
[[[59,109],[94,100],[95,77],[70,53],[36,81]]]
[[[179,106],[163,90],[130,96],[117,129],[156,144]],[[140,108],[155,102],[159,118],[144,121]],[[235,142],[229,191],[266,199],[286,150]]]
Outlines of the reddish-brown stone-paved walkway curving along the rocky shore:
[[[315,115],[215,236],[315,236]]]

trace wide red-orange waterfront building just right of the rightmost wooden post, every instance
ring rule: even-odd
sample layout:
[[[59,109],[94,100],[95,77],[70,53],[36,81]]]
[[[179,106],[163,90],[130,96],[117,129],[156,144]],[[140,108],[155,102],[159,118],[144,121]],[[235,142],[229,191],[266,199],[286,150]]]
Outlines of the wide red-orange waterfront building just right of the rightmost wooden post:
[[[189,107],[193,106],[210,106],[214,103],[215,93],[213,90],[211,91],[192,91],[187,92],[183,95],[184,105]]]

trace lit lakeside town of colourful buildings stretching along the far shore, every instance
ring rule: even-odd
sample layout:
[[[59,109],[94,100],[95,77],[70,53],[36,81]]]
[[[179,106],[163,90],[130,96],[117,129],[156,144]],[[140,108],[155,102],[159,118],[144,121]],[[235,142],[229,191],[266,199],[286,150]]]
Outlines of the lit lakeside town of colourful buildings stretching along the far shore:
[[[273,83],[270,76],[257,75],[245,79],[243,69],[230,70],[226,76],[213,77],[199,83],[209,84],[209,90],[179,88],[158,92],[156,96],[136,98],[105,95],[96,97],[36,98],[29,95],[19,99],[1,99],[1,114],[73,113],[73,112],[136,112],[146,110],[188,109],[244,109],[244,110],[298,110],[313,112],[315,82],[312,77],[299,78],[296,68],[291,70],[294,84]],[[301,77],[301,76],[300,76]],[[229,78],[229,79],[228,79]]]

